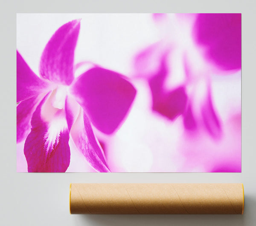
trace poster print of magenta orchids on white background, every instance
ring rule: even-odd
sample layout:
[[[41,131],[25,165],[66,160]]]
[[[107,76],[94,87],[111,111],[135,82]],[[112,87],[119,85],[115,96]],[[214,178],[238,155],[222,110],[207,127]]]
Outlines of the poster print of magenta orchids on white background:
[[[241,172],[241,14],[17,14],[17,172]]]

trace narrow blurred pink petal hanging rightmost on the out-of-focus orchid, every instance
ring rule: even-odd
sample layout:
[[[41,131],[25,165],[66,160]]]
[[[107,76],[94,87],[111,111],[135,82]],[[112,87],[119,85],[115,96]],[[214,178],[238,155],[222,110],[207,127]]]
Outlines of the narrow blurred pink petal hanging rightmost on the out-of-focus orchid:
[[[212,98],[210,93],[208,93],[205,102],[201,107],[201,113],[204,125],[207,128],[209,134],[214,138],[220,138],[222,133],[221,123],[212,105]]]

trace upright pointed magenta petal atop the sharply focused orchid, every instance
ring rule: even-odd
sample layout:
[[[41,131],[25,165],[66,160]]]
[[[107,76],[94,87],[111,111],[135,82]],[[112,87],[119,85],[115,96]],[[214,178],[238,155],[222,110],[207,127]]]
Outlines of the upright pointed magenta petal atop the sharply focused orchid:
[[[52,35],[41,56],[40,74],[43,78],[58,84],[71,84],[79,29],[80,20],[72,20]]]

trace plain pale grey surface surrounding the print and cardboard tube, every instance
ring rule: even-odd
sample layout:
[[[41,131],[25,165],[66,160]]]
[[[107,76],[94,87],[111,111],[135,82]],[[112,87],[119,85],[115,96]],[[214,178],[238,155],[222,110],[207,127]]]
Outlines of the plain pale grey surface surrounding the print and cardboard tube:
[[[128,5],[129,3],[129,5]],[[20,226],[253,226],[256,225],[256,17],[253,1],[9,1],[1,6],[0,225]],[[237,12],[242,13],[241,173],[17,173],[16,13]],[[244,215],[70,215],[70,183],[244,183]]]

